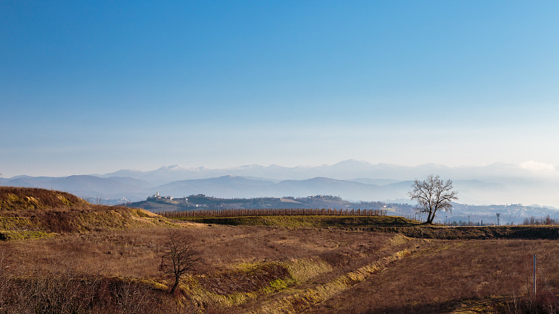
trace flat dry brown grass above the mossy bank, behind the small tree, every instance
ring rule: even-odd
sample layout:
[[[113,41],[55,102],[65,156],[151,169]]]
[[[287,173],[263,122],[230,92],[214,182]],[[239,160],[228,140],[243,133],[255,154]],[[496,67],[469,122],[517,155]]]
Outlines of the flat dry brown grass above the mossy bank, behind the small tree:
[[[241,263],[319,259],[328,255],[347,260],[378,251],[393,238],[392,234],[273,227],[184,227],[183,232],[194,237],[194,245],[201,249],[204,272],[235,269]],[[14,250],[17,264],[26,269],[68,264],[87,274],[157,278],[166,235],[166,227],[66,234],[17,241]]]

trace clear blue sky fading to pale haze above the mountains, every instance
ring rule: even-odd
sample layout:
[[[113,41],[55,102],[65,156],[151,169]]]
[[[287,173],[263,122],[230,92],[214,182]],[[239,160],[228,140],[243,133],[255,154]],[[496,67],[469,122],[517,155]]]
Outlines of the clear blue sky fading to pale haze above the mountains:
[[[0,1],[0,173],[559,165],[559,1]]]

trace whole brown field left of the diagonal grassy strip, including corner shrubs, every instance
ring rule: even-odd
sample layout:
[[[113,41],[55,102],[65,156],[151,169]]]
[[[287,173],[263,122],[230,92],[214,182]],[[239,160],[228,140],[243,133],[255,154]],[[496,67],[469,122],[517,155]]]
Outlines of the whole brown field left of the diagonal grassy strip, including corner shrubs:
[[[31,308],[24,311],[29,313],[55,297],[52,306],[95,302],[78,304],[77,313],[103,302],[123,308],[96,313],[136,313],[136,302],[144,313],[293,313],[365,281],[425,242],[335,229],[191,225],[182,232],[194,238],[201,263],[170,296],[165,292],[173,281],[159,271],[167,231],[135,228],[18,241],[9,258],[10,267],[18,265],[18,277],[8,283],[4,300],[18,311],[20,304]],[[9,244],[0,243],[0,253]],[[79,298],[72,290],[77,284],[84,290]],[[34,299],[38,289],[44,299]]]

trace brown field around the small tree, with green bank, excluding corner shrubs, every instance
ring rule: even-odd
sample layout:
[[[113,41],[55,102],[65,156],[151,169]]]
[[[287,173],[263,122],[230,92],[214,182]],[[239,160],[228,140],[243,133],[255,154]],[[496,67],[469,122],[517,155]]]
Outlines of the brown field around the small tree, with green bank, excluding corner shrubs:
[[[201,311],[293,312],[312,308],[414,252],[398,234],[276,227],[189,225],[203,262],[181,293]],[[49,276],[133,279],[168,290],[158,271],[166,228],[65,234],[12,241],[13,264]],[[103,261],[101,264],[100,261]]]

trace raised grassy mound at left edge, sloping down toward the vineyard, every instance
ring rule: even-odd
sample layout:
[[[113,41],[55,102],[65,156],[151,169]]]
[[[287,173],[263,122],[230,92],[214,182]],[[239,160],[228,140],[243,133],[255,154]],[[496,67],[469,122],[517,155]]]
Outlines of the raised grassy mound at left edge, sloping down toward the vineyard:
[[[94,205],[57,190],[0,186],[0,239],[164,225],[143,209]]]

